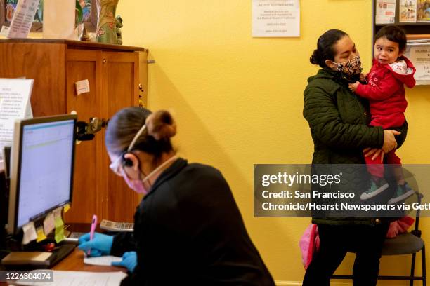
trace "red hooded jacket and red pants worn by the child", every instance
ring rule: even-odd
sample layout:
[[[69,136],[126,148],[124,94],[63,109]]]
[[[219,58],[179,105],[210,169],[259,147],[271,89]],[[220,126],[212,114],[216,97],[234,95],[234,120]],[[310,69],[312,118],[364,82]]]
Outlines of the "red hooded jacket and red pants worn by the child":
[[[356,94],[365,97],[370,103],[371,126],[382,126],[384,129],[398,127],[405,122],[405,111],[408,102],[405,99],[405,87],[415,86],[415,67],[406,57],[399,57],[392,64],[380,64],[373,60],[372,69],[367,74],[367,85],[359,84]],[[400,158],[392,150],[384,156],[387,163],[400,165]],[[372,160],[365,157],[367,170],[371,175],[384,177],[384,165],[381,157]]]

